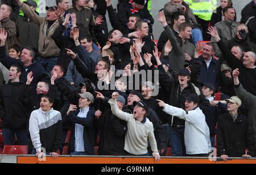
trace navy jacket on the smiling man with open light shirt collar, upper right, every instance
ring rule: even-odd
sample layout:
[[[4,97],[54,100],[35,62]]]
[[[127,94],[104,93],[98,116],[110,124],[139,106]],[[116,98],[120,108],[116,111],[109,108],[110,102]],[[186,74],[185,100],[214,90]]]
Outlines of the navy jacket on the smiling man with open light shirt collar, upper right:
[[[212,58],[209,68],[207,68],[207,64],[205,63],[203,56],[200,56],[199,60],[201,61],[200,81],[203,84],[207,82],[213,84],[215,90],[218,91],[220,87],[220,68],[218,60]]]

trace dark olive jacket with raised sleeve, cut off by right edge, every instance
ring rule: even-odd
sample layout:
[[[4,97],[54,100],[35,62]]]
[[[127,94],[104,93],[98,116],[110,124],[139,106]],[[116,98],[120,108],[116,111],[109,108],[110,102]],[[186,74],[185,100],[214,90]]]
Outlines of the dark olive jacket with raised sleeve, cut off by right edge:
[[[236,91],[237,96],[241,99],[243,105],[249,110],[247,120],[248,120],[248,133],[250,136],[249,150],[251,153],[248,153],[251,156],[256,156],[256,96],[247,92],[243,89],[241,84],[235,86],[234,90]]]

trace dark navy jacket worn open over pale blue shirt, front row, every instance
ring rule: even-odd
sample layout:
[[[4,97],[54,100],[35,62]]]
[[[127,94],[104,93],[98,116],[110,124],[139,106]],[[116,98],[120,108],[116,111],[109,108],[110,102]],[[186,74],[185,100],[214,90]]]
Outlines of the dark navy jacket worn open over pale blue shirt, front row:
[[[69,116],[65,115],[68,119],[70,119],[73,124],[71,128],[71,140],[69,145],[69,152],[75,151],[75,124],[81,124],[84,126],[84,147],[85,152],[88,152],[89,155],[94,154],[94,144],[96,142],[96,128],[94,128],[94,118],[95,118],[95,110],[93,107],[89,108],[86,118],[80,118],[77,116],[80,112],[80,109],[75,111],[74,113],[69,114]]]

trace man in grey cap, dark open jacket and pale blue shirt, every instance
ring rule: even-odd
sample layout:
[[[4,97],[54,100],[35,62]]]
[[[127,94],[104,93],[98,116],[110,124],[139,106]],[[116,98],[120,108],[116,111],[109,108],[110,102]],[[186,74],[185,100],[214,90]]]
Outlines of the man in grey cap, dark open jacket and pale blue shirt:
[[[96,140],[96,130],[93,125],[95,110],[91,107],[94,97],[89,92],[80,95],[79,107],[70,105],[67,117],[72,124],[70,151],[71,155],[93,155]]]

